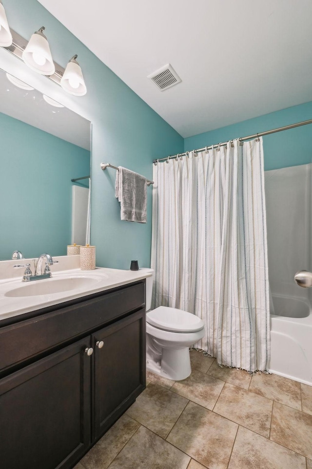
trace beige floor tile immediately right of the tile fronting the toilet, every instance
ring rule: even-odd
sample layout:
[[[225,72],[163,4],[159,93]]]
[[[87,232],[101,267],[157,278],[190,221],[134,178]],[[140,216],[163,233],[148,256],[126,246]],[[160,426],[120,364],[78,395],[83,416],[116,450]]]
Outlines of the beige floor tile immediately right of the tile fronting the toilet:
[[[269,438],[273,401],[226,383],[214,412]]]

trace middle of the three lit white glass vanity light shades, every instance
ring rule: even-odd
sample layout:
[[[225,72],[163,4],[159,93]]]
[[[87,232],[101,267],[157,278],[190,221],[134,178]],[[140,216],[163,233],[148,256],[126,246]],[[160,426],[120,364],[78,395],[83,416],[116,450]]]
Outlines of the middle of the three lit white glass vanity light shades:
[[[43,29],[40,28],[32,35],[22,53],[22,58],[26,65],[41,75],[53,75],[55,65],[47,38],[42,33]]]

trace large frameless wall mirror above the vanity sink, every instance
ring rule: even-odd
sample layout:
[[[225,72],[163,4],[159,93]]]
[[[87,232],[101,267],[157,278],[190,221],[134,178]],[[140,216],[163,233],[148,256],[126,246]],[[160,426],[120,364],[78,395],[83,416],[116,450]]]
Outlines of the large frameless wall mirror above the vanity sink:
[[[86,239],[91,123],[1,69],[0,89],[0,260],[66,255]]]

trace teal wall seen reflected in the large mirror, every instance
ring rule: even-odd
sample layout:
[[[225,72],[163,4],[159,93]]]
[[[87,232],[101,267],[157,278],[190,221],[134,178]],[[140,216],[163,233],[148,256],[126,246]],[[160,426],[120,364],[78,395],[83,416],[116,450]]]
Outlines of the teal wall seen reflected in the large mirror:
[[[72,185],[90,171],[90,152],[0,113],[0,260],[71,244]]]

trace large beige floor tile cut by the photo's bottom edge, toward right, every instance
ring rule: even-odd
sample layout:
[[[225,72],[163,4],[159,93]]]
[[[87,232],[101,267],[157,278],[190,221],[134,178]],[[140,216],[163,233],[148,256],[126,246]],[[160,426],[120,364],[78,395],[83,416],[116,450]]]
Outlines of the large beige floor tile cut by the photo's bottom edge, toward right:
[[[240,426],[228,469],[306,469],[306,460]]]

